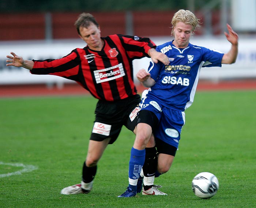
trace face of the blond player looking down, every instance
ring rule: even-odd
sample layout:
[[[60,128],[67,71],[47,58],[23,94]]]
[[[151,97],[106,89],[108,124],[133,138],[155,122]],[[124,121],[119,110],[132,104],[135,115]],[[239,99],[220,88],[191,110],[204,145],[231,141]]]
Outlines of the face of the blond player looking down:
[[[186,48],[190,37],[193,33],[193,27],[190,24],[185,24],[179,21],[174,27],[174,41],[173,44],[177,48]]]

